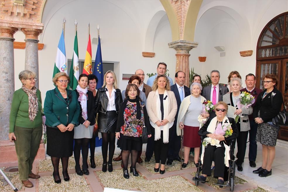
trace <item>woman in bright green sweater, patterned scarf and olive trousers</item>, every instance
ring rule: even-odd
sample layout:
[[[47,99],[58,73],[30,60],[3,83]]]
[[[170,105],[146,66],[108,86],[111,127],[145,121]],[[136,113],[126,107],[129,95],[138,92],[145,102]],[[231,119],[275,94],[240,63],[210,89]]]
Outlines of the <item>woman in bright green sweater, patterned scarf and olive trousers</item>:
[[[9,139],[14,140],[18,157],[19,179],[25,187],[33,187],[29,178],[40,176],[32,173],[32,164],[37,155],[42,138],[41,93],[35,87],[34,72],[24,70],[19,73],[22,88],[13,94],[10,112]]]

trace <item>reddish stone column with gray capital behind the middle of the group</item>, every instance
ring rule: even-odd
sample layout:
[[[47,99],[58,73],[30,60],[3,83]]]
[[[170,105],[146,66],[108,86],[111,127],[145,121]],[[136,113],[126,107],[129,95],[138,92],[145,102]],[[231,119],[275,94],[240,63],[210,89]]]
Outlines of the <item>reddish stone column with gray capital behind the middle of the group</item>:
[[[197,47],[197,42],[191,42],[186,40],[178,40],[168,43],[169,48],[176,50],[176,72],[183,71],[185,73],[185,83],[189,87],[189,51],[194,47]]]

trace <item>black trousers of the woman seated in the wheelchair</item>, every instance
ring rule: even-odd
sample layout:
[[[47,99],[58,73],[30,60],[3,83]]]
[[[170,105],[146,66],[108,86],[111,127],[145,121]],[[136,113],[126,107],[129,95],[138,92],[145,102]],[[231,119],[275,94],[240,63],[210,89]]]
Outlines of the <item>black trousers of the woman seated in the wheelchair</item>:
[[[225,152],[224,145],[221,147],[208,145],[204,151],[202,174],[208,176],[211,175],[211,165],[212,161],[214,161],[215,164],[214,177],[224,178],[224,171],[225,171],[224,152]]]

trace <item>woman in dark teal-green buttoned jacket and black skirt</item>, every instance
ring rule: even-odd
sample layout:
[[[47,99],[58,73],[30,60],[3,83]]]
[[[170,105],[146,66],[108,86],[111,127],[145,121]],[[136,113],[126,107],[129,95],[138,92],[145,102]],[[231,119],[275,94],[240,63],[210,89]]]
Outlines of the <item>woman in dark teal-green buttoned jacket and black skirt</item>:
[[[66,73],[56,73],[55,89],[46,92],[44,113],[47,126],[47,155],[51,156],[55,183],[61,183],[59,161],[62,162],[64,181],[69,181],[68,159],[73,154],[74,126],[78,125],[80,107],[75,91],[67,89],[70,81]]]

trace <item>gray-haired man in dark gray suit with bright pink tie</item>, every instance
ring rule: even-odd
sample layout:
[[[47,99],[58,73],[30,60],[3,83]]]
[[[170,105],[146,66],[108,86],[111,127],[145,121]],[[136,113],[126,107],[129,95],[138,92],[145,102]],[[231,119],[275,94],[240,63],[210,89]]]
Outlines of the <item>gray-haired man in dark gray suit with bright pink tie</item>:
[[[215,105],[219,101],[223,101],[223,95],[228,93],[229,90],[227,87],[219,84],[220,72],[218,70],[211,71],[210,78],[212,84],[203,89],[202,96],[205,97],[206,100],[212,101],[212,103]],[[209,119],[214,118],[215,116],[215,112],[211,112]]]

